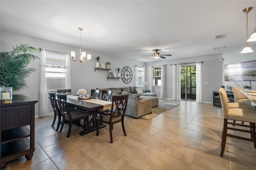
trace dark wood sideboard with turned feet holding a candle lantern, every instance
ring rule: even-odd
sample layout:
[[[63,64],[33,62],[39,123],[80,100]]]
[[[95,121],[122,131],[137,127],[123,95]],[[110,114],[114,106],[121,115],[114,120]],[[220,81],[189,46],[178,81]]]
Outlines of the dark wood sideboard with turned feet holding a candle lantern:
[[[12,103],[0,103],[1,170],[21,156],[32,159],[35,151],[35,104],[25,95],[12,95]],[[30,128],[26,127],[30,125]]]

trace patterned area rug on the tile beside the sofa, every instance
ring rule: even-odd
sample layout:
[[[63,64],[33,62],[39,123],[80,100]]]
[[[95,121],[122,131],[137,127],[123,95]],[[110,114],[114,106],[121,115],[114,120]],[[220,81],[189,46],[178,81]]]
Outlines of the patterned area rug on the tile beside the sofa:
[[[146,119],[146,120],[151,119],[151,118],[156,117],[157,115],[164,113],[165,111],[168,111],[176,106],[178,106],[178,105],[171,104],[171,103],[161,103],[157,107],[152,108],[151,114],[144,115],[141,118]]]

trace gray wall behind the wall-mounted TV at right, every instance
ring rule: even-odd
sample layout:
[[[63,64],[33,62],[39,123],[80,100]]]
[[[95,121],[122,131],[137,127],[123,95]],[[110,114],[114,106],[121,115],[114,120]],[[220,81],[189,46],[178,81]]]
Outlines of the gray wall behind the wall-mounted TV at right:
[[[250,44],[249,44],[250,45]],[[256,45],[250,45],[251,49],[253,50],[252,53],[240,53],[243,49],[243,46],[233,50],[228,51],[222,54],[223,61],[222,61],[222,68],[224,68],[225,64],[232,64],[232,63],[240,63],[244,61],[252,61],[256,60]],[[249,81],[236,81],[239,86],[249,85]],[[237,86],[234,81],[224,81],[224,69],[222,70],[222,84],[227,89],[228,86],[235,87]],[[256,82],[252,81],[252,89],[256,89]]]

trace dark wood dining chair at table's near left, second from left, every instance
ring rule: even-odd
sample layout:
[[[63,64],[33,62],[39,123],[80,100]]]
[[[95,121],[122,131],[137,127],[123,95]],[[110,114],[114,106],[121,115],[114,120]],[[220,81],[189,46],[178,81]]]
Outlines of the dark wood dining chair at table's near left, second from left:
[[[67,95],[65,94],[56,94],[58,98],[58,104],[60,113],[62,114],[62,117],[64,118],[62,120],[62,124],[60,127],[60,132],[62,132],[62,129],[64,127],[65,121],[69,121],[69,127],[68,127],[68,135],[67,138],[70,136],[71,127],[72,127],[72,121],[77,121],[84,118],[84,123],[86,123],[86,120],[89,119],[89,113],[81,110],[75,110],[75,111],[69,111],[67,107]]]

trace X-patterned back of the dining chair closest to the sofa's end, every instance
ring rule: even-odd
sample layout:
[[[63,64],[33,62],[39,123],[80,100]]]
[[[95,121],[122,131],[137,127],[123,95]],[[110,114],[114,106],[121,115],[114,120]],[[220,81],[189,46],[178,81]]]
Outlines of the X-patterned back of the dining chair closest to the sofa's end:
[[[113,95],[110,120],[124,116],[129,95]],[[114,107],[115,104],[115,107]]]

